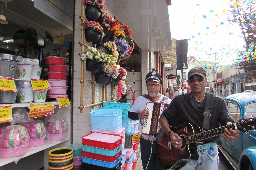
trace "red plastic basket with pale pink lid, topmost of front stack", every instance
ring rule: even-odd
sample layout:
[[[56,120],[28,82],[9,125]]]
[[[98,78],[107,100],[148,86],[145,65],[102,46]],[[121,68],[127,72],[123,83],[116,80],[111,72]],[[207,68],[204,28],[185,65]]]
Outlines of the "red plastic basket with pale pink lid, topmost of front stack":
[[[122,144],[122,136],[92,132],[82,136],[82,144],[113,150]]]

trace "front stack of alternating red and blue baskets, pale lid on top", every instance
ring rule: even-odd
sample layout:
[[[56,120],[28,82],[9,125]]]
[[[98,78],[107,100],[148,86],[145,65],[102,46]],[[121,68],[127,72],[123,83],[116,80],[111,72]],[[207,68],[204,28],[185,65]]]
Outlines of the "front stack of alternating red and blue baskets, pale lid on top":
[[[98,132],[82,136],[82,169],[120,169],[121,155],[121,136]]]

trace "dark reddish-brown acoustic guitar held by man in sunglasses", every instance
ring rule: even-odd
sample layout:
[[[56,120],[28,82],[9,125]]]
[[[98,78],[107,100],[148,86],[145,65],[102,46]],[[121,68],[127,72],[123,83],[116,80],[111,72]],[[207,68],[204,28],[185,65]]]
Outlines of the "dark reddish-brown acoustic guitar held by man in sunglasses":
[[[232,128],[246,132],[253,130],[256,125],[256,118],[242,119],[232,125],[227,125],[212,130],[202,132],[201,128],[191,123],[184,123],[179,127],[170,127],[175,133],[182,138],[182,147],[176,149],[170,141],[168,136],[162,130],[158,132],[158,159],[160,163],[165,166],[165,169],[178,169],[184,166],[189,160],[198,160],[197,146],[203,144],[202,140],[218,136],[224,133],[225,128]]]

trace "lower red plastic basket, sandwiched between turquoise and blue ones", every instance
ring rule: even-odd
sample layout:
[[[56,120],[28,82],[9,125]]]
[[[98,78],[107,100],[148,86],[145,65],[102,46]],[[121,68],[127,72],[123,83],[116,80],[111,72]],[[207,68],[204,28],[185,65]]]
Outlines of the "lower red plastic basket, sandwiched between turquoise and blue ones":
[[[96,160],[102,160],[105,162],[114,162],[115,160],[117,160],[120,156],[122,155],[122,151],[118,152],[116,155],[114,156],[106,156],[106,155],[101,155],[101,154],[95,154],[92,152],[85,152],[82,151],[82,156],[86,157],[86,158],[92,158],[92,159],[96,159]]]

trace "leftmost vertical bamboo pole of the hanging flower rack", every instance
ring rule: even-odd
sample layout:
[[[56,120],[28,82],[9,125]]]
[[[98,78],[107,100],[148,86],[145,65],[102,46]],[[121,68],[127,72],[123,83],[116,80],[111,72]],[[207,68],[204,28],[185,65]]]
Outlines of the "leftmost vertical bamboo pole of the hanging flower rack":
[[[81,16],[79,17],[80,20],[83,20],[85,18],[84,14],[84,0],[81,0],[82,2],[82,8],[81,8]],[[84,42],[84,30],[81,30],[81,42]],[[81,45],[81,51],[84,51],[84,45]],[[80,107],[84,106],[84,61],[81,62],[81,92],[80,92]],[[80,109],[80,113],[83,113],[83,108]]]

